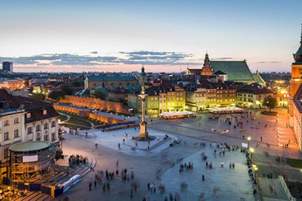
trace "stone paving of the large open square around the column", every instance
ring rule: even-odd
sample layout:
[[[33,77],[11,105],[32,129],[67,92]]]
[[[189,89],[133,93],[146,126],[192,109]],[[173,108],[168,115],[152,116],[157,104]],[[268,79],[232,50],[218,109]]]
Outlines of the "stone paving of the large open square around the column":
[[[101,186],[93,187],[92,191],[88,190],[88,182],[93,181],[94,172],[89,173],[84,177],[83,181],[78,185],[71,188],[67,193],[70,200],[141,200],[142,196],[147,196],[150,200],[164,200],[168,193],[178,191],[182,200],[198,200],[200,193],[205,193],[206,200],[240,200],[244,197],[245,200],[254,200],[252,195],[252,184],[248,181],[247,166],[245,157],[239,152],[226,153],[224,164],[226,167],[219,168],[219,160],[214,159],[212,170],[205,168],[204,162],[200,160],[200,153],[206,152],[209,157],[212,152],[208,147],[209,143],[214,142],[227,142],[228,144],[241,145],[242,142],[247,142],[246,136],[251,136],[250,146],[256,149],[255,160],[259,161],[259,175],[266,174],[267,169],[271,171],[282,168],[278,165],[272,167],[275,155],[281,155],[292,158],[302,158],[297,146],[295,144],[294,134],[292,129],[286,127],[287,115],[285,109],[276,109],[279,112],[279,123],[276,123],[275,116],[264,116],[259,111],[256,111],[256,120],[249,121],[249,124],[244,124],[245,138],[242,137],[243,133],[238,129],[233,129],[229,124],[220,121],[209,121],[208,117],[211,114],[201,114],[198,118],[182,119],[175,121],[166,121],[161,119],[154,119],[153,124],[149,122],[149,128],[154,131],[171,133],[176,136],[185,144],[176,145],[167,149],[167,156],[163,160],[162,154],[158,153],[150,156],[133,156],[125,153],[120,153],[117,150],[103,146],[102,144],[98,149],[95,148],[95,142],[75,138],[66,135],[63,150],[67,152],[92,154],[97,158],[97,166],[95,170],[115,170],[116,161],[119,160],[119,169],[127,168],[135,172],[135,180],[139,183],[139,195],[134,193],[134,197],[130,199],[130,183],[122,183],[120,178],[117,177],[110,181],[110,193],[103,193]],[[224,115],[226,117],[226,115]],[[224,119],[224,118],[222,118]],[[252,129],[260,121],[260,125],[268,125],[268,128]],[[276,135],[277,125],[279,126],[280,141],[277,141]],[[216,129],[229,129],[229,135],[220,135],[211,132],[212,128]],[[152,130],[152,129],[150,129]],[[123,131],[125,132],[125,131]],[[106,133],[105,133],[106,134]],[[260,140],[262,137],[262,142]],[[204,141],[203,141],[204,140]],[[290,145],[288,149],[278,146],[278,143],[288,142]],[[206,142],[207,147],[201,149],[200,142]],[[256,147],[258,143],[258,147]],[[269,144],[269,146],[267,145]],[[64,149],[65,147],[65,149]],[[271,157],[262,157],[264,152],[268,152]],[[211,155],[211,156],[210,156]],[[260,155],[258,157],[257,155]],[[184,158],[185,162],[193,162],[194,169],[189,172],[179,174],[179,166],[173,166],[174,161],[178,158]],[[262,161],[263,160],[263,161]],[[229,169],[229,162],[235,162],[235,170]],[[265,161],[269,161],[265,163]],[[156,179],[156,171],[162,168],[163,174],[161,176],[162,183],[166,185],[167,191],[164,195],[151,194],[147,191],[147,182],[153,182]],[[288,170],[289,174],[296,174],[295,170]],[[290,171],[292,171],[290,173]],[[205,181],[201,180],[201,175],[205,174]],[[273,172],[274,174],[274,172]],[[277,173],[276,173],[277,174]],[[180,182],[186,181],[188,183],[188,191],[180,192]],[[218,196],[213,197],[213,187],[217,186]],[[228,199],[231,197],[232,199]],[[62,197],[61,197],[62,198]]]

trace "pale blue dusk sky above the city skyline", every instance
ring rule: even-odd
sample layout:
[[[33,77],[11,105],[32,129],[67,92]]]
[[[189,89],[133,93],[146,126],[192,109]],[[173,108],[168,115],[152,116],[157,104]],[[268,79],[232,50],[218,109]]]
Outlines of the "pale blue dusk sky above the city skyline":
[[[16,72],[179,72],[210,60],[290,71],[302,1],[0,0],[0,61]]]

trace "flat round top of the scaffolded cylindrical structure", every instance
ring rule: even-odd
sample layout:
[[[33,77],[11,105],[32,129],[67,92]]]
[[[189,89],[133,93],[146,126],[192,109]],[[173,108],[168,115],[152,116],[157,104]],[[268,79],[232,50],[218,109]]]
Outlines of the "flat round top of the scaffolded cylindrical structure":
[[[18,143],[10,146],[10,150],[13,152],[28,152],[28,151],[37,151],[40,149],[45,149],[50,146],[49,142],[46,141],[30,141]]]

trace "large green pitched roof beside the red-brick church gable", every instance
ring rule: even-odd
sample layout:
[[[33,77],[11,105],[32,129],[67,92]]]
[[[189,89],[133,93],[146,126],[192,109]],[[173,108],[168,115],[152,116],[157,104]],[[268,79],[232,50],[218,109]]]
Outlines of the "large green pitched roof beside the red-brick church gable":
[[[218,70],[228,75],[231,81],[252,81],[252,73],[245,61],[211,61],[213,72]]]

